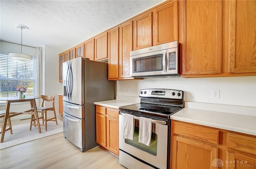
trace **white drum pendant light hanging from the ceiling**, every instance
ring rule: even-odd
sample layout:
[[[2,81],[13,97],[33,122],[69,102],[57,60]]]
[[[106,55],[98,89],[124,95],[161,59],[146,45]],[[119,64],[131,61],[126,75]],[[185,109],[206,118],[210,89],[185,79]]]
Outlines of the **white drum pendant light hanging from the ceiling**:
[[[20,53],[9,53],[9,58],[12,59],[13,61],[22,61],[22,62],[30,62],[32,61],[32,56],[22,54],[22,30],[23,29],[28,29],[28,27],[24,25],[17,24],[17,28],[21,29],[21,52]]]

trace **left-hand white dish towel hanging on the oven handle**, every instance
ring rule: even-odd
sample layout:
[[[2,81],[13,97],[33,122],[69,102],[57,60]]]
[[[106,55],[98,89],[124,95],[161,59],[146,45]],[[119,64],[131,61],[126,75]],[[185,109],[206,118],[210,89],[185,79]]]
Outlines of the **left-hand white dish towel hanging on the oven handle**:
[[[124,116],[124,138],[133,140],[134,115],[126,113]]]

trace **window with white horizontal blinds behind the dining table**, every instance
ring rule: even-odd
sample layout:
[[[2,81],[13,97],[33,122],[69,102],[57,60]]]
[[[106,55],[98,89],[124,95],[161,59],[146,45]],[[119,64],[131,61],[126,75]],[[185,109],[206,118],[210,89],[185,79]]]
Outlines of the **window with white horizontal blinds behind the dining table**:
[[[36,82],[36,59],[16,62],[8,55],[0,54],[0,97],[18,96],[16,86],[27,86],[27,96],[34,95]]]

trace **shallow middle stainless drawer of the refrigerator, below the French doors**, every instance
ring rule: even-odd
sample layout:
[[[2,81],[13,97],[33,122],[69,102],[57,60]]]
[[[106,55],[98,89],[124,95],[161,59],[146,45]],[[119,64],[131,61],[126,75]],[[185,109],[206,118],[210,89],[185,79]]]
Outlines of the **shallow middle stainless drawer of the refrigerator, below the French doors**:
[[[77,118],[84,118],[84,106],[63,102],[63,112]]]

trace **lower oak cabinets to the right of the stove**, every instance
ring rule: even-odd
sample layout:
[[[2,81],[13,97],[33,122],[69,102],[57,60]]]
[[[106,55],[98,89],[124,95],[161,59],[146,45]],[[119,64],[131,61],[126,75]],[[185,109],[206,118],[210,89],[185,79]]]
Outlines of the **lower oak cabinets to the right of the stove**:
[[[256,169],[256,136],[172,120],[170,169]]]

